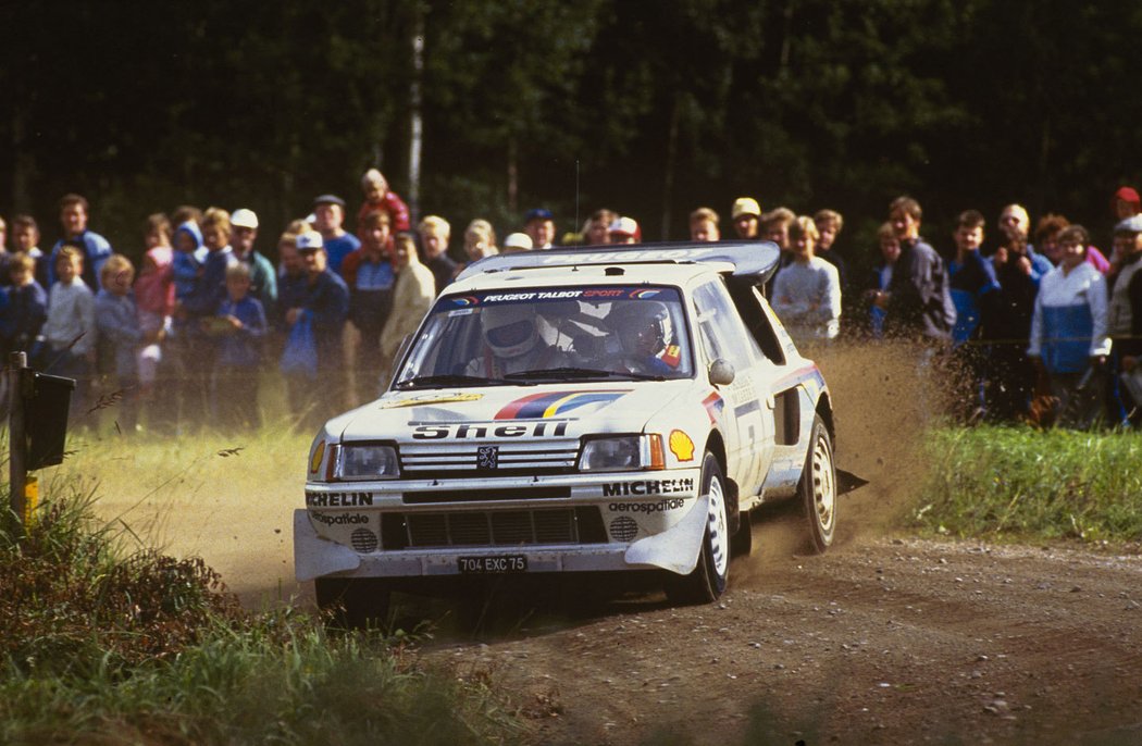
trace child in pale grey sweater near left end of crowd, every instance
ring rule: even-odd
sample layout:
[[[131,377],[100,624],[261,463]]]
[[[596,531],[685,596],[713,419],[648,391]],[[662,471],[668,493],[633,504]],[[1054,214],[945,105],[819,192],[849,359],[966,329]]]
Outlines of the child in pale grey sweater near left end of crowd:
[[[45,372],[75,379],[71,415],[86,410],[95,360],[95,295],[82,280],[83,247],[65,243],[55,252],[55,284],[43,324]]]

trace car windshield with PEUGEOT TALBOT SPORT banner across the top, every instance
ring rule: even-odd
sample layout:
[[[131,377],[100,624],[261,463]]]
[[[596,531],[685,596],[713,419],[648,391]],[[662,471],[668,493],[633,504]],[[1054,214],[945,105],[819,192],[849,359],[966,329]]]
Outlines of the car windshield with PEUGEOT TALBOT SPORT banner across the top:
[[[513,288],[441,297],[394,387],[662,380],[693,375],[677,288]]]

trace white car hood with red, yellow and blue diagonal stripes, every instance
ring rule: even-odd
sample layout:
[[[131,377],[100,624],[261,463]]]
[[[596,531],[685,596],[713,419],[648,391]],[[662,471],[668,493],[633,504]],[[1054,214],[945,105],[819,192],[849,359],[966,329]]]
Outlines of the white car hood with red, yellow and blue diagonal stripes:
[[[540,422],[560,423],[560,435],[638,433],[657,412],[694,386],[693,380],[561,383],[534,386],[488,386],[433,391],[386,392],[327,425],[343,441],[407,440],[417,428],[486,424],[528,436]],[[440,431],[431,431],[440,432]],[[548,434],[555,434],[548,431]],[[468,436],[484,436],[471,431]]]

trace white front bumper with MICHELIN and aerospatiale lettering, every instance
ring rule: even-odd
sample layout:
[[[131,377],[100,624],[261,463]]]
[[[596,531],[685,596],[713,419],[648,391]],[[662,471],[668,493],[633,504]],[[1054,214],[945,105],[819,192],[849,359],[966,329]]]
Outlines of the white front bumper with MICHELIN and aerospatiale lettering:
[[[698,470],[508,480],[457,480],[448,491],[486,496],[496,489],[568,488],[557,499],[472,500],[425,504],[439,482],[309,484],[309,507],[293,513],[293,562],[298,580],[319,577],[428,577],[460,575],[461,556],[524,556],[528,573],[662,568],[689,573],[698,562],[708,520],[708,498],[698,495]],[[507,494],[507,492],[505,492]],[[606,527],[597,543],[402,546],[361,543],[362,530],[385,515],[457,516],[528,510],[597,510]],[[356,534],[354,534],[356,532]]]

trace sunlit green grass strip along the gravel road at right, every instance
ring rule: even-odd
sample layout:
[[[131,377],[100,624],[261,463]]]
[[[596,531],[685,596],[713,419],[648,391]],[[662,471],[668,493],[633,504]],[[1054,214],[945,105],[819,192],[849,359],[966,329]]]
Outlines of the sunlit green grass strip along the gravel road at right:
[[[1140,542],[1140,455],[1133,433],[935,428],[907,522],[956,537]]]

